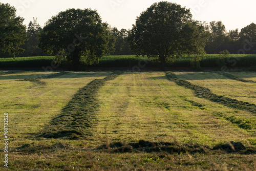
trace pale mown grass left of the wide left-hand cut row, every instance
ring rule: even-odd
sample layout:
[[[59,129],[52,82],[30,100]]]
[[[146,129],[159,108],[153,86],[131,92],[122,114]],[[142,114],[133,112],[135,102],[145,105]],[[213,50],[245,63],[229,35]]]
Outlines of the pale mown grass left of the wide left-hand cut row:
[[[2,99],[0,109],[8,112],[11,118],[10,140],[15,140],[15,143],[12,142],[14,146],[26,143],[28,137],[34,137],[40,132],[60,114],[61,109],[84,84],[110,74],[109,72],[70,72],[56,78],[44,79],[47,86],[35,86],[30,81],[18,81],[49,76],[53,73],[58,72],[24,71],[0,76]]]

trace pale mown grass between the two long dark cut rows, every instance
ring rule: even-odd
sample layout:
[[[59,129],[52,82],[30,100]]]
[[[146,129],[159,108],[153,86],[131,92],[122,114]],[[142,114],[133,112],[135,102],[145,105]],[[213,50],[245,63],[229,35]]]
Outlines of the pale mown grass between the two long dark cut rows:
[[[255,124],[251,113],[195,97],[193,90],[169,82],[162,72],[121,75],[101,88],[98,98],[101,108],[97,132],[104,137],[106,131],[114,142],[177,140],[213,145],[244,134],[229,130],[232,123],[219,120],[215,115],[218,113],[254,118],[251,125]],[[225,132],[232,135],[230,139],[228,135],[223,137]]]

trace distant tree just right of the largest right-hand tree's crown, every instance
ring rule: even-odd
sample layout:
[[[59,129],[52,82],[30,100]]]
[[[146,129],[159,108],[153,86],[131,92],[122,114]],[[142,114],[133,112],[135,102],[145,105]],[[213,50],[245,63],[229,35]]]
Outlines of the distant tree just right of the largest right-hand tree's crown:
[[[231,42],[231,37],[227,34],[226,28],[221,21],[210,22],[209,29],[211,34],[205,47],[207,53],[215,53],[220,45]]]

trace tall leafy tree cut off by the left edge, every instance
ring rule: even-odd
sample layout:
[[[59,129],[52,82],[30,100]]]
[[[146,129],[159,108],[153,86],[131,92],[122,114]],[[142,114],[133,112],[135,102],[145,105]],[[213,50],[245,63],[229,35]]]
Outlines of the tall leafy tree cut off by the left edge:
[[[0,3],[0,54],[15,56],[24,52],[20,45],[27,40],[24,19],[16,16],[16,9],[9,4]]]

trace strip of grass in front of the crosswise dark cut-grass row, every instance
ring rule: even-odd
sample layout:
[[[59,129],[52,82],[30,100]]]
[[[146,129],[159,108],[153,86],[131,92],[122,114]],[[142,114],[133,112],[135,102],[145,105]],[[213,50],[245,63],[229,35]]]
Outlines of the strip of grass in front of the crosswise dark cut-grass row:
[[[13,170],[256,170],[255,155],[111,153],[58,149],[12,154]]]

